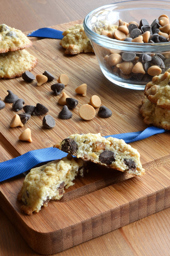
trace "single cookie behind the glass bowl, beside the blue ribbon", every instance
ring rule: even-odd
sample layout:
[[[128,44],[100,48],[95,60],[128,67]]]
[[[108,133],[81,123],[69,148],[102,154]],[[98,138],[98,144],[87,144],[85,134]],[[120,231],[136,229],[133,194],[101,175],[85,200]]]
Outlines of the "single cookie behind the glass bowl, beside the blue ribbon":
[[[65,54],[94,52],[89,38],[86,36],[83,24],[77,24],[63,32],[60,44],[65,48]]]

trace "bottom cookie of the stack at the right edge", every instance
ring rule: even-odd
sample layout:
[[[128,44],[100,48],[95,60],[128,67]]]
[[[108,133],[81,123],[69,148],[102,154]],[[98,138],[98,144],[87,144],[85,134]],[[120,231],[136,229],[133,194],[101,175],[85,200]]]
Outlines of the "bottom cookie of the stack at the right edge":
[[[170,130],[170,110],[160,108],[160,106],[150,102],[146,96],[142,100],[140,114],[144,118],[145,124]]]

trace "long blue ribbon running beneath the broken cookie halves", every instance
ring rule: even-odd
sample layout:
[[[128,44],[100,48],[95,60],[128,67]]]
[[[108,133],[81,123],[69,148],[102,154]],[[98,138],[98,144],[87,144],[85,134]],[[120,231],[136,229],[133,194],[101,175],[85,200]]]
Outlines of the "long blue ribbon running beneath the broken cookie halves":
[[[154,134],[159,134],[166,131],[168,130],[152,126],[146,128],[144,131],[107,135],[105,138],[113,137],[123,139],[126,143],[130,143],[137,140],[143,140]],[[58,148],[52,147],[29,151],[21,156],[0,163],[0,182],[26,172],[37,164],[60,159],[64,156],[67,156],[67,153],[59,150]]]

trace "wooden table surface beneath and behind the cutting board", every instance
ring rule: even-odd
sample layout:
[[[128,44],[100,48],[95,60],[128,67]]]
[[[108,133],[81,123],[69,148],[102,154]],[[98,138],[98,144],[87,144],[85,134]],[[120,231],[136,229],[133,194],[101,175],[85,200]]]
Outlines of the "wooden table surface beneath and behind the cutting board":
[[[111,3],[109,0],[6,0],[1,6],[0,23],[22,31],[34,30],[82,19],[94,8],[109,3]],[[2,137],[0,142],[2,162],[12,156]],[[168,223],[170,223],[169,208],[55,255],[168,256],[170,252]],[[0,210],[0,255],[38,255],[29,248],[2,210]]]

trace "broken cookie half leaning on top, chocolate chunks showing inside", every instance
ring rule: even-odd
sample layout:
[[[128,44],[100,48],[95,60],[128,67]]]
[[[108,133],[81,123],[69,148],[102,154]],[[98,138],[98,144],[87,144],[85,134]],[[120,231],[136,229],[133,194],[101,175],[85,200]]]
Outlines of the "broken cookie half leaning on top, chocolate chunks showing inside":
[[[124,140],[104,138],[98,134],[72,134],[54,147],[91,162],[110,168],[142,176],[144,169],[140,154]]]

